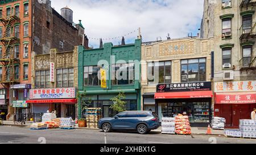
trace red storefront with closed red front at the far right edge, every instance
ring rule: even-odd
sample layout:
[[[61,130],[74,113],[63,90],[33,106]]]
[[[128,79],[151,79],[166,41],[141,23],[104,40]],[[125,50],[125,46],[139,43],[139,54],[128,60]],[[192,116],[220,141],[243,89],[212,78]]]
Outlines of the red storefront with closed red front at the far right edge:
[[[226,119],[226,128],[238,128],[256,108],[256,81],[214,83],[214,116]]]

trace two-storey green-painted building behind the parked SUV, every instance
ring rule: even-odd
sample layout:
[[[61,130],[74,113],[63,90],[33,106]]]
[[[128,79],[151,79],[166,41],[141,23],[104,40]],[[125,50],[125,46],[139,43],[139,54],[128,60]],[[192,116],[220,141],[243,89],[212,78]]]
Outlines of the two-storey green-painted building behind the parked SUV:
[[[141,110],[141,40],[134,44],[113,46],[105,43],[103,48],[85,50],[79,53],[79,118],[82,117],[82,103],[88,107],[101,107],[103,117],[113,117],[110,98],[124,92],[127,110]],[[106,71],[107,88],[101,88],[100,69]],[[127,77],[127,78],[125,78]]]

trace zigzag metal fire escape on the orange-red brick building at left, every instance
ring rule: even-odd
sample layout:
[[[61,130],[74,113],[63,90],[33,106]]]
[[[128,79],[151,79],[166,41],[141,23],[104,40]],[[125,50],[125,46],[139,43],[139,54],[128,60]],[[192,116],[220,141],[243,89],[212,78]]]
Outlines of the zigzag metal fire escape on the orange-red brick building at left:
[[[16,12],[17,13],[17,12]],[[15,79],[14,64],[19,63],[19,58],[15,58],[14,44],[19,42],[19,38],[15,37],[14,28],[12,32],[13,24],[19,22],[18,16],[15,14],[15,10],[2,12],[0,21],[5,29],[4,33],[0,36],[3,49],[0,54],[0,63],[2,64],[2,77],[0,77],[0,83],[3,87],[8,88],[10,85],[19,83],[19,80]]]

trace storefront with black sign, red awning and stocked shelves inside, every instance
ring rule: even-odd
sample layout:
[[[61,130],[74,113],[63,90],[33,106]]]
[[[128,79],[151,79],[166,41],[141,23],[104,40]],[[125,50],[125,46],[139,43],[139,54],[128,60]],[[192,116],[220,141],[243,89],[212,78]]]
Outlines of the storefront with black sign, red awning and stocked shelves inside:
[[[188,115],[191,126],[208,126],[212,97],[210,82],[159,84],[155,93],[155,109],[160,120],[183,114]]]

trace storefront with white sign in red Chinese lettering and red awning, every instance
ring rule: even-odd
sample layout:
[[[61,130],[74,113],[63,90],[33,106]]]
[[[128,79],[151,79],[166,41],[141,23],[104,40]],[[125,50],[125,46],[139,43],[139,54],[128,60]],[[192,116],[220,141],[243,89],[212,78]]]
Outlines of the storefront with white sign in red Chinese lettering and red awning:
[[[52,88],[52,89],[31,89],[30,100],[31,111],[34,114],[46,113],[56,110],[56,116],[77,117],[77,100],[75,88]]]

